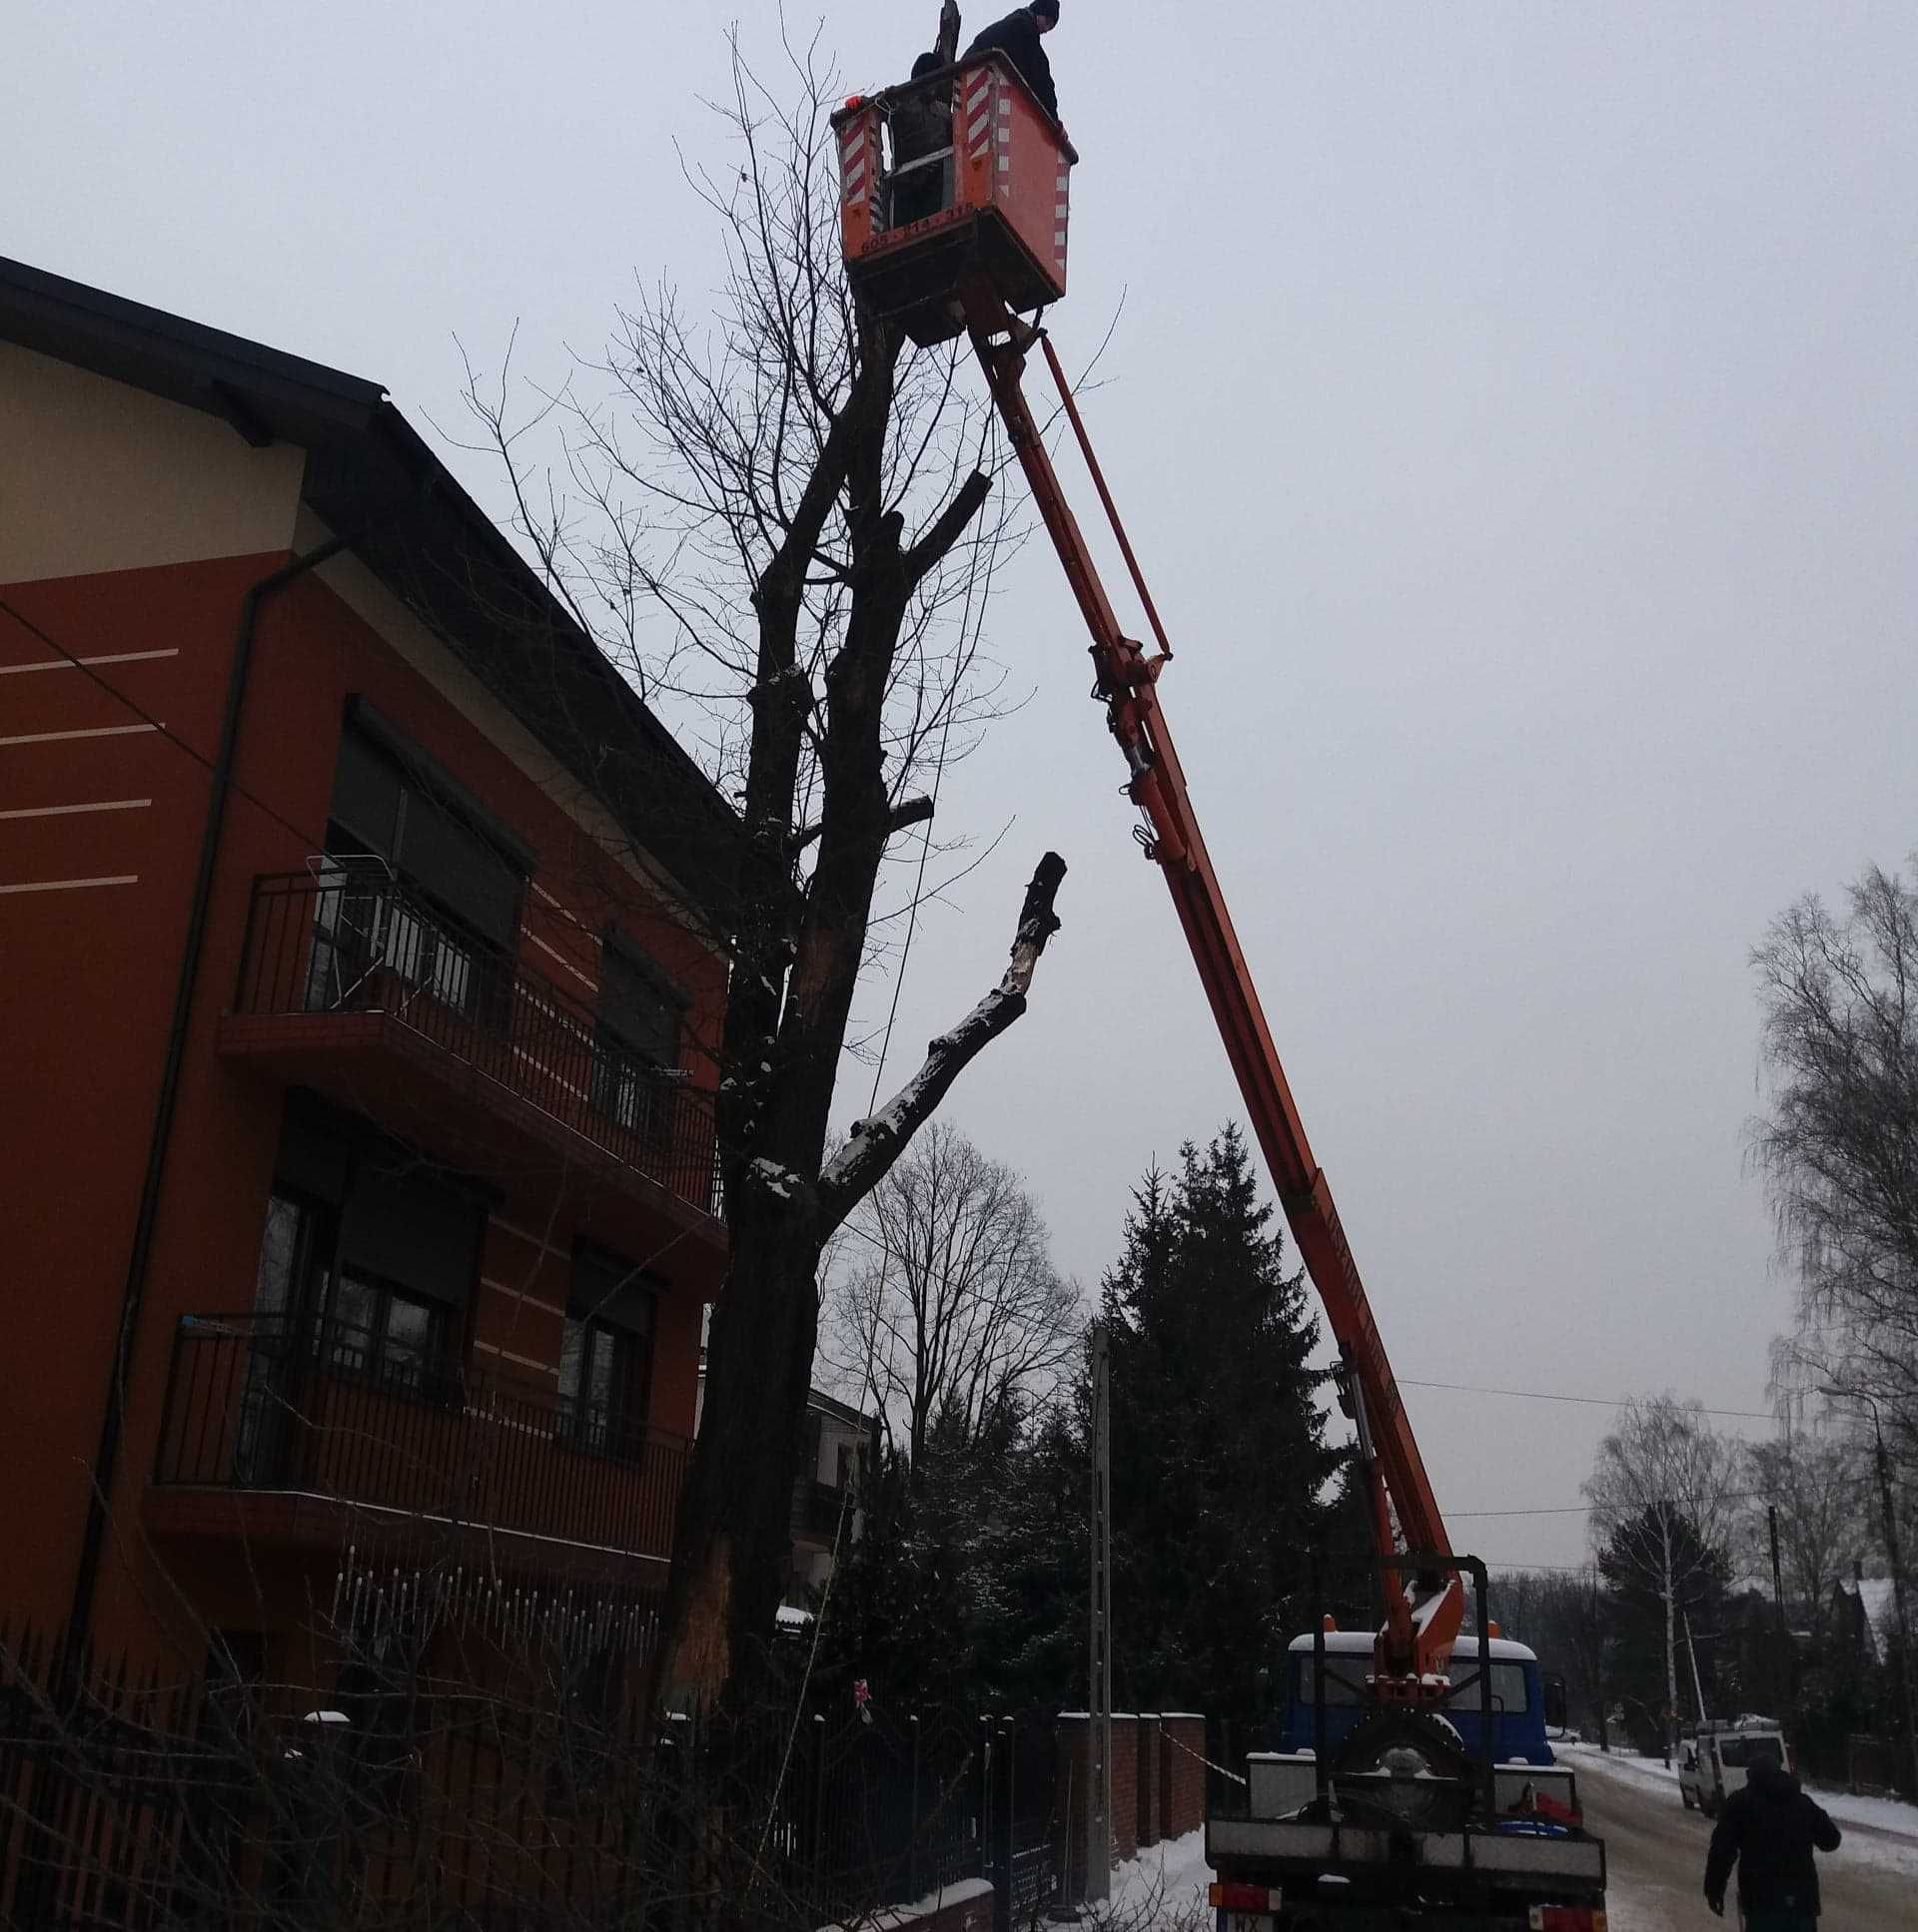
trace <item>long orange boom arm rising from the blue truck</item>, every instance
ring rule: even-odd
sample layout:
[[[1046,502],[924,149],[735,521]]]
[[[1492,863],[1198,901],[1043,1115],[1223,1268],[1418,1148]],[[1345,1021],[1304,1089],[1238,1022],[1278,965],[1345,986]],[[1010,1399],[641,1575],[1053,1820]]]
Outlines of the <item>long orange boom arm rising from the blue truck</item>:
[[[1361,1453],[1367,1457],[1371,1472],[1373,1532],[1379,1553],[1392,1555],[1394,1551],[1386,1497],[1390,1497],[1390,1511],[1398,1517],[1406,1548],[1442,1553],[1450,1548],[1444,1520],[1438,1515],[1419,1445],[1411,1435],[1411,1422],[1392,1379],[1379,1323],[1373,1320],[1357,1262],[1353,1262],[1340,1227],[1332,1188],[1313,1159],[1305,1124],[1292,1099],[1292,1088],[1286,1084],[1286,1070],[1272,1045],[1270,1028],[1259,1007],[1259,993],[1232,929],[1232,914],[1226,910],[1226,896],[1193,815],[1185,773],[1158,705],[1158,674],[1172,657],[1158,612],[1133,560],[1131,545],[1119,526],[1118,510],[1092,456],[1050,340],[1011,315],[986,282],[963,290],[961,299],[973,348],[978,352],[980,365],[992,384],[992,398],[1032,487],[1046,531],[1065,566],[1073,595],[1079,599],[1087,630],[1092,634],[1094,696],[1106,705],[1106,723],[1125,755],[1131,773],[1127,790],[1150,827],[1148,835],[1141,835],[1147,854],[1158,862],[1158,869],[1172,889],[1172,902],[1185,927],[1185,941],[1199,966],[1199,978],[1205,981],[1206,999],[1212,1003],[1212,1018],[1226,1041],[1226,1053],[1232,1059],[1232,1070],[1237,1076],[1239,1094],[1245,1097],[1286,1221],[1292,1227],[1292,1238],[1297,1242],[1313,1287],[1324,1302],[1332,1337],[1344,1358],[1344,1393],[1357,1422]],[[1085,535],[1065,502],[1058,471],[1052,468],[1052,458],[1046,454],[1046,444],[1027,406],[1021,375],[1034,342],[1044,348],[1100,502],[1112,520],[1127,570],[1145,603],[1160,645],[1156,657],[1147,657],[1145,649],[1119,630],[1119,620],[1114,616],[1112,603],[1100,583]],[[1456,1571],[1442,1565],[1415,1575],[1404,1586],[1392,1580],[1390,1571],[1380,1571],[1380,1577],[1384,1578],[1386,1623],[1379,1633],[1379,1690],[1402,1702],[1433,1702],[1442,1696],[1433,1679],[1442,1677],[1450,1663],[1452,1638],[1458,1634],[1464,1615],[1464,1584]]]

